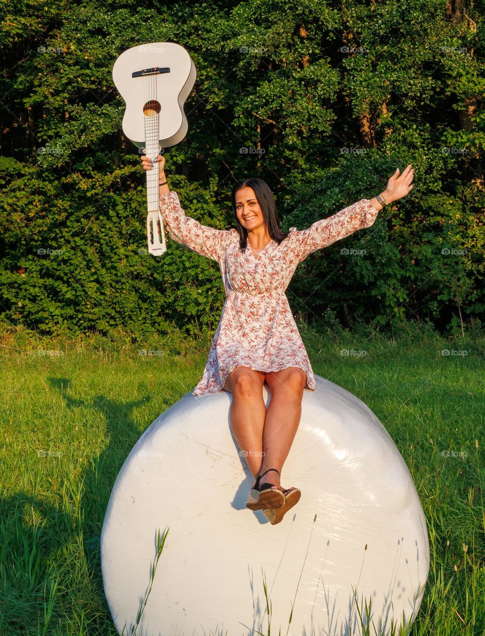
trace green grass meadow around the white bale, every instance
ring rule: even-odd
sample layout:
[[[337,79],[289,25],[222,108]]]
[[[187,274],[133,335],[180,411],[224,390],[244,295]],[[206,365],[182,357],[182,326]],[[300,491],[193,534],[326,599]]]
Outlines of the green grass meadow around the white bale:
[[[428,328],[385,338],[375,329],[351,334],[332,321],[324,333],[298,326],[315,373],[369,405],[413,474],[431,567],[411,634],[482,636],[481,328],[475,323],[463,342]],[[43,340],[2,328],[0,636],[116,635],[99,553],[109,494],[142,432],[202,377],[211,339],[174,334],[130,346],[125,335]],[[147,349],[155,354],[140,355]],[[341,355],[346,349],[361,353]],[[443,349],[467,355],[442,356]]]

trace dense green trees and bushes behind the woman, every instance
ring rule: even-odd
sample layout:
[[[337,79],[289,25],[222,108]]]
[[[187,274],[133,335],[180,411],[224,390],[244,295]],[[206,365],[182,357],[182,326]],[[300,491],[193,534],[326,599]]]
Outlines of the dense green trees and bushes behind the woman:
[[[6,6],[1,319],[40,333],[215,328],[217,263],[170,239],[147,253],[144,177],[111,78],[123,50],[163,40],[197,68],[167,172],[204,225],[233,225],[229,193],[245,176],[270,184],[283,228],[303,229],[413,164],[408,197],[299,265],[294,310],[379,329],[483,315],[482,4]]]

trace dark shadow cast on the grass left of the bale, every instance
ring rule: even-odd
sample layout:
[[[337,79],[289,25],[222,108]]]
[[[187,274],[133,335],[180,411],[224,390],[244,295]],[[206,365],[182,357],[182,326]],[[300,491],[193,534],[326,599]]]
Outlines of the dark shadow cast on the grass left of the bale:
[[[64,627],[66,631],[50,630],[54,629],[54,623],[62,625],[72,611],[78,617],[83,612],[89,613],[90,628],[116,634],[102,584],[100,534],[114,481],[140,438],[133,410],[147,404],[151,396],[126,402],[114,401],[102,394],[77,399],[69,396],[69,378],[51,377],[48,383],[58,391],[67,410],[84,407],[99,411],[106,422],[108,443],[75,478],[65,471],[62,501],[58,506],[46,503],[41,497],[32,497],[24,490],[0,500],[0,564],[4,572],[0,633],[9,636],[71,633],[71,630],[67,632],[69,623]],[[161,410],[165,408],[165,404],[161,405]],[[74,575],[72,581],[62,581],[61,601],[60,597],[55,598],[56,581],[59,570],[70,568],[72,550],[76,550],[71,544],[76,543],[84,551],[88,580],[86,574],[81,574],[84,581],[74,579]],[[89,587],[91,593],[90,598],[82,598],[81,603],[79,590],[74,591],[77,584],[81,590]],[[60,591],[57,589],[57,593]],[[71,627],[72,633],[79,633],[79,625],[77,632],[74,624],[69,625]]]

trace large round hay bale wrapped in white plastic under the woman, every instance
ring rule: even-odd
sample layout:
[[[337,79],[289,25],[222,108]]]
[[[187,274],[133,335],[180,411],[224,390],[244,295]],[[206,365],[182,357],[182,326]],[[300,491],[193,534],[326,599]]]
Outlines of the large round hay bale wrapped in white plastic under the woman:
[[[413,621],[429,547],[411,474],[360,399],[315,380],[282,471],[301,500],[275,526],[245,508],[252,476],[229,427],[231,394],[188,393],[144,432],[114,483],[101,536],[120,633],[131,633],[146,598],[139,636],[256,635],[268,620],[274,634],[348,636],[361,633],[369,600],[371,633],[372,623],[387,634],[403,616]],[[269,404],[266,384],[263,396]],[[168,528],[147,597],[157,532]]]

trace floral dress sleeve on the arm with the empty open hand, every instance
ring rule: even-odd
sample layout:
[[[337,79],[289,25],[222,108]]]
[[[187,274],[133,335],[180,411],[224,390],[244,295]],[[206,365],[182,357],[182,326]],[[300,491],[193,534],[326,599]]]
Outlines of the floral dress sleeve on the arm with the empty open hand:
[[[292,232],[294,252],[298,262],[303,261],[308,254],[332,245],[339,239],[345,239],[355,230],[370,228],[377,218],[379,211],[369,199],[360,199],[357,203],[345,207],[328,219],[315,221],[306,230]]]

